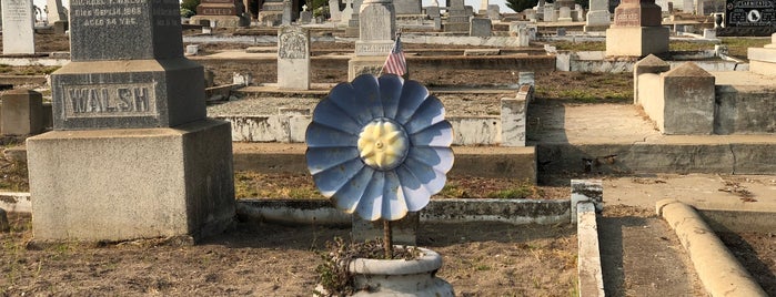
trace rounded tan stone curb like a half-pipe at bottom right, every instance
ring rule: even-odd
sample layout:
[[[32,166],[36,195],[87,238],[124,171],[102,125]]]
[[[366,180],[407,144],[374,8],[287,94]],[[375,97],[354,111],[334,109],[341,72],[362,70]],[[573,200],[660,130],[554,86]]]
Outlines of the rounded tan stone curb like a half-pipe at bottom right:
[[[693,207],[663,199],[656,208],[676,232],[711,296],[767,296]]]

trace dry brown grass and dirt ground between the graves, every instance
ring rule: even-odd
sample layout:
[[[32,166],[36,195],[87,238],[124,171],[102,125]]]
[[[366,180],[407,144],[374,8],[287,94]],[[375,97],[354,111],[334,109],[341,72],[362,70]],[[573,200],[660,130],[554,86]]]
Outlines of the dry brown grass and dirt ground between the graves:
[[[41,51],[68,50],[67,40],[37,43],[46,47]],[[204,51],[233,47],[210,45]],[[313,50],[340,47],[333,42],[313,43]],[[407,44],[409,49],[435,45]],[[276,79],[274,70],[256,71],[239,63],[206,66],[214,70],[216,83],[230,82],[232,72],[245,71],[254,74],[254,81],[272,82]],[[11,73],[19,74],[52,70],[10,68]],[[516,73],[494,70],[416,71],[412,75],[435,85],[516,82]],[[537,104],[631,104],[631,73],[541,74],[536,76]],[[314,71],[312,81],[333,83],[344,81],[344,72]],[[26,190],[22,164],[3,160],[0,171],[3,188]],[[530,198],[567,198],[570,178],[628,178],[658,186],[672,178],[603,176],[582,172],[545,173],[538,177],[540,185],[532,186],[505,178],[451,176],[441,196],[480,198],[501,193]],[[308,175],[238,172],[235,181],[238,195],[242,197],[315,195]],[[736,188],[746,190],[745,183],[739,184],[742,186]],[[177,238],[46,245],[31,240],[29,215],[11,213],[9,219],[11,232],[0,233],[0,296],[311,296],[315,266],[321,263],[319,253],[325,249],[325,242],[349,236],[346,228],[281,226],[241,218],[234,229],[195,246]],[[601,227],[602,238],[618,238],[618,243],[602,243],[604,248],[619,249],[619,256],[604,260],[604,265],[611,265],[604,267],[605,272],[618,272],[605,275],[608,281],[614,279],[616,284],[607,287],[609,295],[647,296],[657,287],[675,285],[669,281],[672,279],[688,281],[668,294],[662,288],[666,296],[705,295],[676,235],[652,208],[606,204],[599,222],[609,226]],[[643,234],[654,236],[641,236]],[[720,234],[734,255],[770,295],[776,295],[775,236],[773,233]],[[450,281],[458,296],[575,296],[577,293],[577,238],[572,225],[422,224],[417,238],[420,246],[430,247],[443,256],[444,265],[439,276]],[[654,238],[659,238],[659,242]]]

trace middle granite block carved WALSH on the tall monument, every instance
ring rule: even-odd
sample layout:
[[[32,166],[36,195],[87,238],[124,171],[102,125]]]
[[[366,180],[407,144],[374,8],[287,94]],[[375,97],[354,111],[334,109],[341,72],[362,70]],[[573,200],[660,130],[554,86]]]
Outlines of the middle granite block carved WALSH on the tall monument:
[[[177,126],[205,117],[202,65],[188,59],[80,61],[51,75],[56,130]],[[84,82],[99,81],[103,85]],[[198,90],[200,90],[198,92]]]

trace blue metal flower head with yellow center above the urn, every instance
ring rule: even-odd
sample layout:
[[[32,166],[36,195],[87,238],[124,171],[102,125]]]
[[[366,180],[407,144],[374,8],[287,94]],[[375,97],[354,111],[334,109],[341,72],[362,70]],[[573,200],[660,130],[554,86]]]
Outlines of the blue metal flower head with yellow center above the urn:
[[[308,168],[345,213],[396,221],[429,204],[453,166],[444,106],[416,81],[386,74],[340,83],[313,112]]]

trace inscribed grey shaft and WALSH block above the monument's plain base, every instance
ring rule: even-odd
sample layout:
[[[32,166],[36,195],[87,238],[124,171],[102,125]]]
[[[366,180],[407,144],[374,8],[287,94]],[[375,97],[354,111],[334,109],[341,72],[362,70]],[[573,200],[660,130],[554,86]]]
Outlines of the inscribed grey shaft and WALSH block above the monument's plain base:
[[[4,2],[4,1],[3,1]],[[72,0],[70,59],[51,76],[56,130],[164,127],[205,117],[202,66],[183,59],[174,0]],[[131,1],[128,1],[131,2]]]

